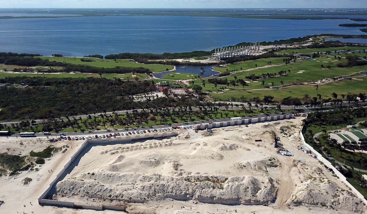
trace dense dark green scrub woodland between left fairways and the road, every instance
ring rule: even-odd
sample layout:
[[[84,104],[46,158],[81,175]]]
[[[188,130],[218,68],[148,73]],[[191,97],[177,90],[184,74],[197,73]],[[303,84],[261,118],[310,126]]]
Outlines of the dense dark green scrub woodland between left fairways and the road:
[[[123,81],[113,78],[6,77],[0,83],[26,83],[25,89],[0,88],[0,121],[47,119],[84,115],[91,112],[138,107],[127,95],[156,90],[150,81]]]

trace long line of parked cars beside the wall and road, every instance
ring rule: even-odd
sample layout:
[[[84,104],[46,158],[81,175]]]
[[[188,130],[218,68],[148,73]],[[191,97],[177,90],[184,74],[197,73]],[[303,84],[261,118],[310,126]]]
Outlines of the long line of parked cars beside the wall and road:
[[[153,132],[159,132],[159,131],[171,131],[174,129],[177,129],[178,127],[171,127],[171,128],[157,128],[157,129],[148,129],[148,130],[141,130],[141,131],[129,131],[129,132],[116,132],[116,133],[108,133],[108,134],[102,134],[102,135],[94,135],[94,136],[75,136],[75,137],[71,137],[71,136],[66,136],[66,134],[60,134],[60,138],[61,139],[68,139],[69,141],[74,141],[74,140],[85,140],[85,139],[98,139],[98,138],[112,138],[112,137],[117,137],[117,136],[123,136],[123,135],[132,135],[132,134],[146,134],[146,133],[153,133]]]

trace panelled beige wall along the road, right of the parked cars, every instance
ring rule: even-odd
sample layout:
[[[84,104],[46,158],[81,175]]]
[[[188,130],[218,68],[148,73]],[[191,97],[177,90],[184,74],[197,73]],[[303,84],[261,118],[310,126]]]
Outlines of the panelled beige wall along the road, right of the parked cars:
[[[305,113],[301,114],[301,116],[306,116]],[[293,118],[294,115],[277,115],[277,116],[271,116],[271,117],[257,117],[257,118],[249,118],[249,119],[242,119],[238,121],[224,121],[224,122],[215,122],[212,124],[204,124],[195,126],[195,130],[205,130],[206,128],[212,129],[212,128],[219,128],[219,127],[226,127],[226,126],[236,126],[241,124],[248,124],[248,123],[257,123],[261,121],[271,121],[271,120],[282,120],[282,119],[290,119]]]

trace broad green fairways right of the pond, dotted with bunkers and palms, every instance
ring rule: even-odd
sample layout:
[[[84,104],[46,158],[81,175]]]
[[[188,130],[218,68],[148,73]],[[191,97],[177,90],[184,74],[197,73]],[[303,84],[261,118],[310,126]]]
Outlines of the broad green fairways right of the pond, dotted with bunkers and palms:
[[[347,57],[348,55],[358,55],[359,57],[363,56],[363,54],[346,54],[346,55],[336,54],[336,56],[340,56],[340,57]],[[255,62],[258,64],[258,67],[259,67],[259,65],[260,66],[264,65],[264,62],[266,61],[268,62],[271,61],[272,64],[273,62],[275,62],[275,63],[278,63],[278,65],[279,64],[281,65],[271,66],[271,67],[266,67],[266,68],[257,68],[257,69],[253,69],[250,71],[237,72],[237,73],[233,73],[230,76],[221,77],[220,79],[227,79],[228,81],[230,81],[230,80],[235,80],[235,76],[236,76],[237,79],[243,79],[246,81],[250,81],[246,79],[246,76],[250,74],[261,76],[262,73],[265,73],[265,74],[266,73],[272,73],[272,74],[276,73],[277,75],[276,77],[259,79],[258,82],[250,81],[250,83],[248,83],[248,86],[245,87],[245,88],[251,88],[251,89],[261,89],[261,88],[265,88],[265,86],[270,86],[271,83],[274,83],[274,86],[281,86],[281,81],[283,81],[283,84],[305,83],[305,82],[317,81],[317,80],[324,79],[324,78],[346,76],[346,75],[352,75],[353,73],[356,73],[356,72],[367,71],[367,65],[355,66],[352,68],[337,67],[337,64],[339,62],[346,63],[347,60],[346,58],[341,58],[341,61],[338,61],[337,59],[334,58],[334,54],[331,55],[331,57],[327,57],[326,55],[323,55],[322,57],[316,58],[316,60],[307,59],[307,60],[291,63],[288,65],[283,64],[283,58],[268,58],[266,60],[257,59],[257,60],[249,60],[246,62],[242,61],[240,62],[241,64],[230,64],[227,66],[229,67],[228,70],[231,71],[231,70],[239,69],[240,67],[242,67],[243,69],[252,67],[252,65],[255,64]],[[331,69],[323,70],[321,68],[321,65],[323,65],[324,67],[331,66]],[[219,69],[223,70],[223,68],[219,68]],[[278,72],[280,70],[286,70],[287,75],[279,76]],[[290,70],[290,72],[288,72],[288,70]],[[302,73],[300,71],[302,71]],[[356,73],[355,75],[357,76],[359,74]],[[261,85],[262,80],[265,81],[264,86]],[[195,83],[201,84],[201,80],[195,80]]]

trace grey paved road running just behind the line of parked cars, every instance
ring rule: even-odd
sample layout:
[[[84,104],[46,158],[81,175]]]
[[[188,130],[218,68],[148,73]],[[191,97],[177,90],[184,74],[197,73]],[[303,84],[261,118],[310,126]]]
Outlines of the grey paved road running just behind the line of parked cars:
[[[286,114],[291,114],[291,112],[287,112]],[[277,116],[277,115],[281,115],[280,113],[272,113],[272,114],[268,114],[269,116]],[[246,117],[242,117],[243,119],[248,119],[248,118],[258,118],[258,117],[265,117],[265,114],[261,114],[261,115],[253,115],[253,116],[246,116]],[[194,121],[194,122],[187,122],[187,123],[176,123],[176,124],[167,124],[167,125],[160,125],[160,126],[149,126],[149,127],[140,127],[140,128],[129,128],[128,130],[126,129],[114,129],[114,130],[101,130],[101,131],[92,131],[92,132],[73,132],[73,133],[65,133],[66,136],[94,136],[94,135],[102,135],[102,134],[106,134],[106,133],[115,133],[115,132],[128,132],[128,131],[135,131],[135,130],[148,130],[148,129],[157,129],[157,128],[167,128],[167,127],[175,127],[175,126],[187,126],[187,125],[194,125],[194,124],[203,124],[203,123],[214,123],[214,122],[223,122],[223,121],[229,121],[230,118],[224,118],[224,119],[215,119],[215,120],[201,120],[201,121]],[[42,133],[37,133],[36,137],[44,137],[45,135]],[[48,135],[49,137],[55,137],[55,136],[60,136],[60,133],[52,133],[51,135]],[[19,134],[13,134],[9,137],[19,137]]]

